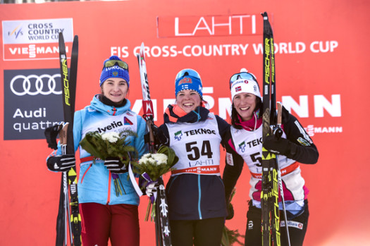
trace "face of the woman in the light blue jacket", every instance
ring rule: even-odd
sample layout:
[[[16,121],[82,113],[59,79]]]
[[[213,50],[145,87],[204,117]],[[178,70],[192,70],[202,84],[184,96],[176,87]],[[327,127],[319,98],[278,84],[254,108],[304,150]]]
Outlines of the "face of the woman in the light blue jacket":
[[[112,102],[120,104],[128,92],[128,85],[123,78],[108,78],[101,85],[101,94]]]

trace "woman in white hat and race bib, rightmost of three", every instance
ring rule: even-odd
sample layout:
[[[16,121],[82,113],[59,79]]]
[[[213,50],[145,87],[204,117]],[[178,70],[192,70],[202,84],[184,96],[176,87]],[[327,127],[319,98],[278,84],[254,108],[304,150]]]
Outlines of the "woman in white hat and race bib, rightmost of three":
[[[263,104],[256,78],[244,68],[230,78],[230,90],[233,106],[231,128],[227,133],[228,144],[226,144],[228,163],[223,172],[226,199],[229,199],[245,162],[251,173],[245,245],[261,245]],[[282,121],[283,135],[279,139],[275,135],[269,135],[264,144],[266,149],[277,154],[280,164],[291,245],[302,245],[309,217],[307,202],[309,190],[304,184],[298,162],[315,164],[319,152],[297,118],[285,108]],[[278,201],[281,210],[280,194]],[[280,218],[281,245],[288,245],[283,226],[286,221],[283,216]]]

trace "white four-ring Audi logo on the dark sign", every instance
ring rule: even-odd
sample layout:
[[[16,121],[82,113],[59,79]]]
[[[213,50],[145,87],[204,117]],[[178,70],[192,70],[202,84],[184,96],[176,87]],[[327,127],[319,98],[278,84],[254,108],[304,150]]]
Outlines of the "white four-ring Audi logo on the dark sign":
[[[30,96],[35,96],[37,94],[43,94],[43,95],[48,95],[51,93],[54,94],[61,94],[62,91],[57,91],[55,90],[56,88],[56,80],[55,78],[61,78],[60,74],[54,74],[54,75],[49,75],[49,74],[43,74],[43,75],[17,75],[11,80],[11,91],[16,94],[17,96],[24,96],[25,94],[29,94]],[[32,81],[31,81],[32,79]],[[33,80],[35,79],[35,80]],[[47,91],[44,91],[44,82],[47,81]],[[23,90],[22,91],[16,91],[14,89],[14,84],[15,83],[23,83]],[[35,90],[31,90],[32,87],[32,82],[35,83]]]

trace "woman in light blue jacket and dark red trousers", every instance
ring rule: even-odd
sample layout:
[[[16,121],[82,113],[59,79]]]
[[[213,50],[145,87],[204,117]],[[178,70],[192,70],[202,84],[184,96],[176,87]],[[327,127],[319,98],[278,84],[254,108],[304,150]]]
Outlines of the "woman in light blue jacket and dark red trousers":
[[[137,136],[127,139],[135,147],[140,158],[147,152],[144,144],[146,124],[130,110],[126,99],[130,86],[128,65],[111,56],[104,61],[99,85],[101,94],[92,98],[90,105],[75,112],[73,137],[75,150],[86,133],[119,133],[132,130]],[[58,144],[59,145],[59,144]],[[140,245],[138,205],[139,196],[128,178],[128,168],[119,159],[110,158],[93,163],[91,156],[80,147],[80,175],[78,199],[82,216],[83,245]],[[61,155],[60,145],[56,153],[47,159],[51,171],[66,171],[75,165],[75,156]],[[118,176],[123,185],[121,195],[116,195],[112,176]]]

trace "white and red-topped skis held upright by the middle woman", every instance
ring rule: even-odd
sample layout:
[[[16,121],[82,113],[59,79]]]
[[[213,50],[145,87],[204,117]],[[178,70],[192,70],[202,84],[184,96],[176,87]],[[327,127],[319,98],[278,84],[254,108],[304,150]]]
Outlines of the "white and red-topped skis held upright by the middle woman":
[[[139,62],[140,81],[142,86],[142,110],[143,118],[147,122],[149,130],[149,152],[154,153],[154,134],[152,125],[154,125],[154,110],[153,103],[150,99],[149,82],[147,75],[147,65],[145,61],[144,43],[141,44],[140,53],[136,54],[137,61]],[[166,192],[164,189],[164,181],[159,178],[159,195],[156,196],[155,204],[155,217],[154,222],[156,225],[156,245],[169,246],[171,245],[171,229],[168,219],[168,205],[166,199]]]

